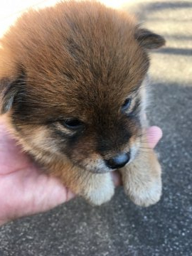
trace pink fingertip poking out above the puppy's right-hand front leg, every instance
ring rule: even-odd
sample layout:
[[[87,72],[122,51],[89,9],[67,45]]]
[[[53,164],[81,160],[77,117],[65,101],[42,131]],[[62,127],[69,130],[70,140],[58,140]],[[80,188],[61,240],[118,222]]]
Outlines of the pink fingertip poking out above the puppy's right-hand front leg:
[[[151,147],[151,149],[154,149],[156,144],[159,142],[159,139],[161,139],[162,135],[163,135],[163,132],[162,132],[161,128],[156,127],[156,126],[149,127],[146,130],[146,137],[147,137],[148,144]]]

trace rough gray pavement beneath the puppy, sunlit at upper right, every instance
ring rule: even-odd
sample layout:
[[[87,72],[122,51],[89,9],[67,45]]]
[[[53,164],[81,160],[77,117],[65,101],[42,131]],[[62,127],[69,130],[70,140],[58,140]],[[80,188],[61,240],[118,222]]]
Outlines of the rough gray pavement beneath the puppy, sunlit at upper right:
[[[167,40],[151,55],[149,116],[164,138],[161,201],[140,208],[117,188],[110,203],[92,207],[76,198],[48,213],[0,228],[1,256],[192,255],[192,1],[127,4]]]

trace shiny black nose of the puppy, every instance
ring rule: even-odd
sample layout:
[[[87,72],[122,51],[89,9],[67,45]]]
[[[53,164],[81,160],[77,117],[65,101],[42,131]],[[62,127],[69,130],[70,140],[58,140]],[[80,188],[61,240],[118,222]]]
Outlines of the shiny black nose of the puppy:
[[[128,163],[129,159],[129,153],[122,153],[112,157],[111,159],[105,160],[105,162],[107,166],[110,167],[110,169],[118,169],[125,166],[125,164]]]

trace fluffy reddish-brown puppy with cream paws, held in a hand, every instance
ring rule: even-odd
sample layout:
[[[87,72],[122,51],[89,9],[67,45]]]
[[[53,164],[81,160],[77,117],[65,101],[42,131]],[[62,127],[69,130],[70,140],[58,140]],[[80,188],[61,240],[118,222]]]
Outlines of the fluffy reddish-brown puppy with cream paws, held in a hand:
[[[146,72],[148,49],[163,45],[94,1],[28,11],[1,39],[1,114],[45,171],[90,203],[110,200],[120,169],[125,193],[149,206],[161,168],[145,145]]]

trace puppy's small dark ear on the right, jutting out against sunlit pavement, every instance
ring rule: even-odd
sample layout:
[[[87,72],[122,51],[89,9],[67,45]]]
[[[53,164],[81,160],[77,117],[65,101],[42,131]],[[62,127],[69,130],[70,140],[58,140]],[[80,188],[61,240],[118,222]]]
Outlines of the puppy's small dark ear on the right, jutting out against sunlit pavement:
[[[162,36],[159,36],[145,28],[137,28],[135,38],[139,42],[139,45],[146,49],[156,49],[164,46],[166,43]]]

